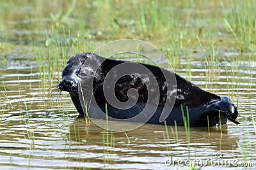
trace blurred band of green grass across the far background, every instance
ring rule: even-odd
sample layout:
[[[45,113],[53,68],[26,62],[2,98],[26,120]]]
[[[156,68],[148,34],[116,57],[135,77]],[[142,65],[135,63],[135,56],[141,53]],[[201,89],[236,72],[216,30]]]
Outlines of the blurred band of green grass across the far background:
[[[81,36],[85,36],[83,32],[90,31],[87,38],[107,41],[138,38],[165,46],[175,43],[174,46],[179,48],[197,46],[196,36],[207,41],[205,32],[212,29],[214,41],[218,32],[222,32],[222,40],[218,42],[220,45],[227,45],[230,39],[235,39],[241,51],[244,51],[247,47],[254,49],[254,6],[253,0],[246,3],[223,1],[219,6],[213,0],[143,0],[143,5],[139,1],[6,0],[0,6],[0,29],[7,32],[16,27],[20,31],[32,31],[35,38],[42,38],[42,34],[51,27],[61,32],[64,26],[66,30],[70,29],[71,35],[76,35],[77,28],[83,27],[85,31],[81,30]],[[236,38],[230,38],[230,34],[236,34]],[[173,52],[179,53],[179,48],[173,48]]]

